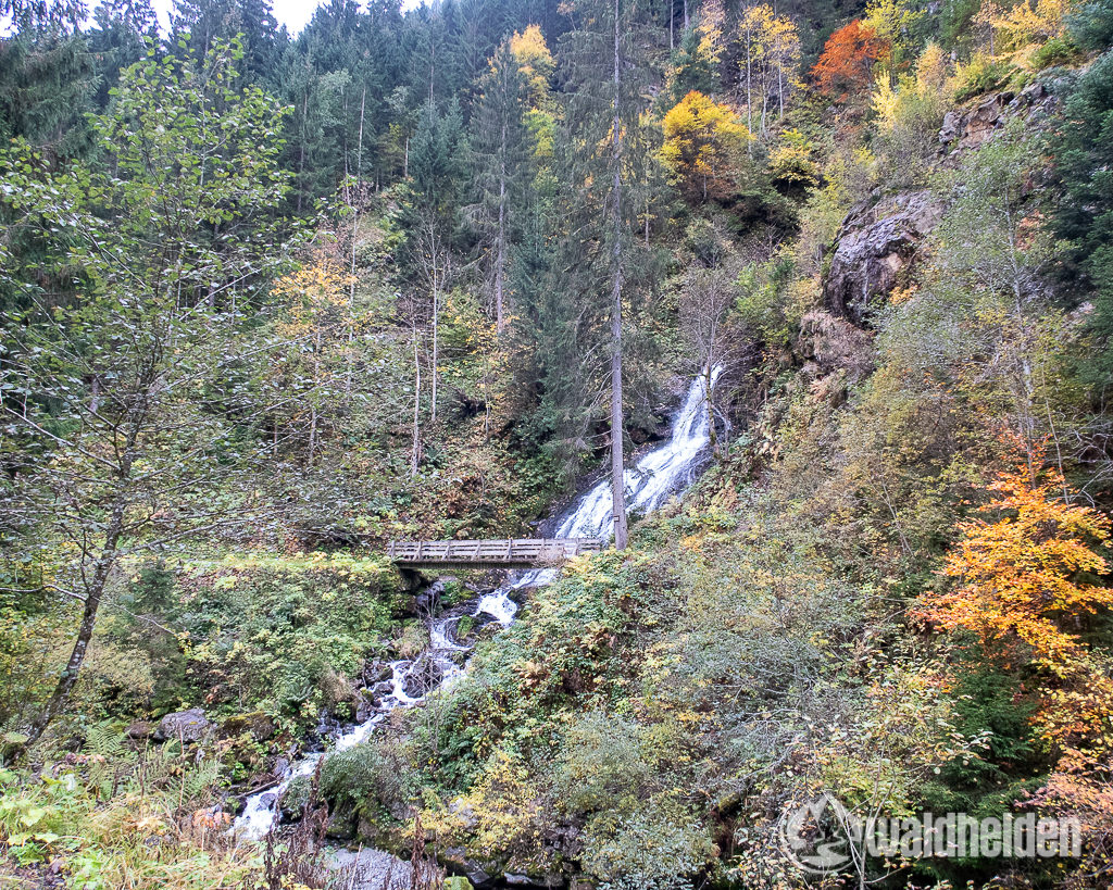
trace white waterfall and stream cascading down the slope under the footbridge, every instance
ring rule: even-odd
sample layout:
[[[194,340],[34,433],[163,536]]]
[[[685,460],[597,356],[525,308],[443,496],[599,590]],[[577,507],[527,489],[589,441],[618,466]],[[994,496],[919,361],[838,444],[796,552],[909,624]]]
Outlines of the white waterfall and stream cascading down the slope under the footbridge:
[[[713,388],[721,367],[710,375]],[[697,377],[688,388],[684,404],[672,422],[669,441],[644,454],[633,467],[626,471],[623,482],[627,508],[640,513],[657,510],[664,500],[682,484],[692,472],[711,441],[710,421],[707,411],[707,377]],[[591,491],[581,496],[561,517],[553,537],[602,537],[612,533],[613,513],[610,478],[603,478]],[[522,587],[539,587],[556,577],[555,568],[534,568],[516,572],[499,590],[484,594],[476,604],[475,615],[486,614],[503,626],[509,625],[518,612],[518,604],[511,593]],[[368,720],[352,726],[338,735],[336,751],[343,751],[366,741],[375,726],[382,723],[396,708],[412,708],[420,704],[433,690],[410,694],[410,683],[415,675],[432,666],[439,682],[436,689],[457,680],[464,672],[452,659],[454,652],[464,652],[452,635],[452,626],[459,615],[430,622],[430,645],[413,661],[391,662],[391,692],[384,695],[378,709]],[[236,819],[233,831],[237,838],[257,840],[265,837],[278,819],[278,801],[290,782],[302,775],[309,775],[324,756],[323,753],[307,754],[287,768],[282,781],[267,791],[252,794],[245,801],[244,812]]]

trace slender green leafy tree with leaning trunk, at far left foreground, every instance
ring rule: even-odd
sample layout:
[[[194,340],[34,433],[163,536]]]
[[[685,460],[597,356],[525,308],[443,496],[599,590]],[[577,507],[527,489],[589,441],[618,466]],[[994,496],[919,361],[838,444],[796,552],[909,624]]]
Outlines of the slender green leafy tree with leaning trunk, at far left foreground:
[[[232,335],[283,261],[287,177],[285,111],[237,86],[239,58],[217,43],[127,69],[95,121],[109,162],[53,170],[26,142],[0,161],[13,225],[65,244],[79,280],[61,303],[35,278],[8,281],[27,308],[4,319],[3,448],[19,467],[4,543],[42,565],[43,591],[81,604],[29,743],[67,702],[121,558],[242,521],[217,495],[243,424],[221,387],[244,360]]]

